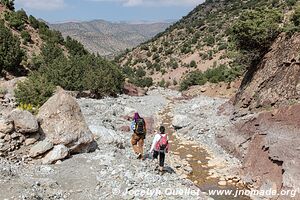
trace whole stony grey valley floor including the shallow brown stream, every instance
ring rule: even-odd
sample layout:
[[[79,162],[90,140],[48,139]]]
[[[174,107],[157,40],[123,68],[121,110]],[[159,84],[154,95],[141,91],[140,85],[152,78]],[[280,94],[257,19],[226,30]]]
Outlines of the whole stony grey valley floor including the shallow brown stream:
[[[218,115],[226,101],[205,96],[188,100],[164,89],[143,97],[79,99],[99,149],[54,165],[0,159],[0,199],[249,199],[208,195],[210,190],[243,189],[240,162],[216,142],[216,135],[231,125],[229,116]],[[155,162],[133,154],[126,131],[135,111],[149,127],[145,152],[159,125],[171,135],[163,176],[155,171]]]

